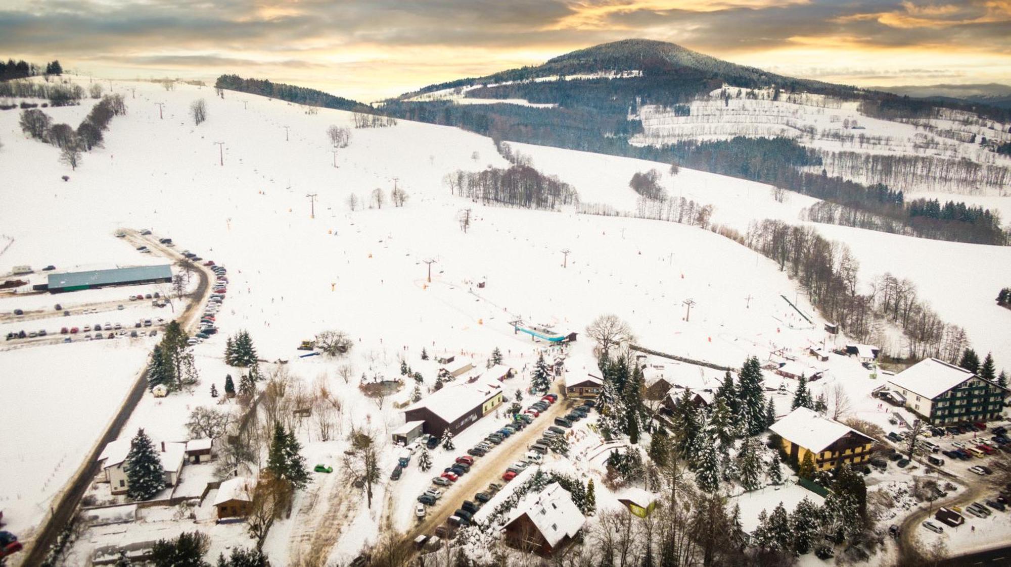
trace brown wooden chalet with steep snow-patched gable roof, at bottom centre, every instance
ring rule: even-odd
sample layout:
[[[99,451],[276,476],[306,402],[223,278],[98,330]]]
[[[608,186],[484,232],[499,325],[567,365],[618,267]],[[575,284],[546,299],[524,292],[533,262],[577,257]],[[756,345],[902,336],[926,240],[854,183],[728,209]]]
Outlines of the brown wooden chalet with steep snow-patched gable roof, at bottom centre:
[[[585,522],[568,490],[552,482],[513,509],[503,528],[505,543],[523,551],[551,555],[571,541]]]

